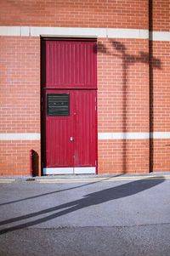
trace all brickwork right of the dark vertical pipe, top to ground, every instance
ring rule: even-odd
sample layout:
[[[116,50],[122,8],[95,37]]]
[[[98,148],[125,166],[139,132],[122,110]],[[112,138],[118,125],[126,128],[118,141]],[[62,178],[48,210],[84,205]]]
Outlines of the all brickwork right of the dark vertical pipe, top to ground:
[[[151,29],[170,31],[170,3],[167,0],[151,1]],[[150,63],[150,131],[169,132],[169,42],[164,38],[150,43],[153,58],[158,62]],[[170,171],[169,139],[150,139],[150,171]]]

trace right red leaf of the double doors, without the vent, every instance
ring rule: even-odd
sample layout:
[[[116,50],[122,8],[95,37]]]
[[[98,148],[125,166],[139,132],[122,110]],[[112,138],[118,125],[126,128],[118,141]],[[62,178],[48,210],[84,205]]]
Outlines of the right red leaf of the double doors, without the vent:
[[[94,167],[96,160],[96,91],[75,91],[74,167]]]

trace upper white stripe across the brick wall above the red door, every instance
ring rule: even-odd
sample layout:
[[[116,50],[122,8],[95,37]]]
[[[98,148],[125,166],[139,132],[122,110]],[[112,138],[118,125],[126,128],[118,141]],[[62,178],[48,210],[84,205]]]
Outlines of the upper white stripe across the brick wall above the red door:
[[[48,26],[0,26],[0,36],[19,37],[112,37],[149,39],[149,30],[123,28],[48,27]],[[170,41],[170,32],[153,31],[150,39]]]

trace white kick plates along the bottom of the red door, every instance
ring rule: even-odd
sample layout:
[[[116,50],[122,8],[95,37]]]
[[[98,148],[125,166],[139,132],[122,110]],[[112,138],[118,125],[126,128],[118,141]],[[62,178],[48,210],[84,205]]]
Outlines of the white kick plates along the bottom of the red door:
[[[96,174],[95,167],[43,168],[43,175],[53,174]]]

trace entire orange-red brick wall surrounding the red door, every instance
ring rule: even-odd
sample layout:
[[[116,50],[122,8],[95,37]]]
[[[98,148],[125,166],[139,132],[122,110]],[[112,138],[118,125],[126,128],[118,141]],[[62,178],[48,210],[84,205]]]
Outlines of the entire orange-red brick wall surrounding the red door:
[[[0,9],[0,26],[170,31],[167,0],[2,0]],[[163,38],[98,38],[99,133],[170,131],[169,48]],[[0,37],[0,56],[0,133],[40,133],[40,37]],[[162,138],[99,139],[99,173],[169,171],[169,144]],[[40,172],[40,140],[1,140],[0,174],[29,174],[31,149]]]

